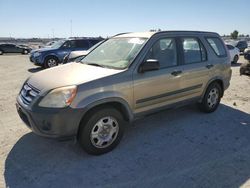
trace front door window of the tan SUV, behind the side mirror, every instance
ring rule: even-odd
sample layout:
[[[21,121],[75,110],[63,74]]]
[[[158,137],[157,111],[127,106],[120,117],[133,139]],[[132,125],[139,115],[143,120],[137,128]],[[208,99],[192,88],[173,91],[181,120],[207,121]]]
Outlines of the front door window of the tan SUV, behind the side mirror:
[[[177,65],[176,42],[174,38],[163,38],[158,40],[146,55],[147,59],[159,61],[160,68]]]

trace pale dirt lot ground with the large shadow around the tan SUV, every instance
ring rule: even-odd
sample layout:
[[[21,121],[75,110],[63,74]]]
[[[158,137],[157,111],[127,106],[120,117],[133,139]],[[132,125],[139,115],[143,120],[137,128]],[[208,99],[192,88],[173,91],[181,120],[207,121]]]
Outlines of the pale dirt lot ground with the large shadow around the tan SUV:
[[[40,69],[28,56],[0,56],[0,187],[250,186],[250,78],[239,75],[240,63],[216,112],[186,106],[137,120],[97,157],[26,128],[15,98]]]

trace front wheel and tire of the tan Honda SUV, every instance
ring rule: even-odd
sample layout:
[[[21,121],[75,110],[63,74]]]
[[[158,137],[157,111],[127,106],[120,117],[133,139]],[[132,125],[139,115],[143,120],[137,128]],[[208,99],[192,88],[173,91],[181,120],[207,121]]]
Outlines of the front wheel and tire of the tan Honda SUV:
[[[122,139],[124,119],[109,106],[91,112],[80,125],[78,142],[89,154],[101,155],[113,150]]]

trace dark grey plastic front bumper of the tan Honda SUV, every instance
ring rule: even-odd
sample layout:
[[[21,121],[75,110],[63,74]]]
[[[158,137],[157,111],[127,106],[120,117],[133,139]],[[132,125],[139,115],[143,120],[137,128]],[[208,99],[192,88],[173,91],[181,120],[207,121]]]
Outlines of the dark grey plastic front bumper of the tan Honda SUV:
[[[81,109],[62,109],[25,106],[20,97],[16,102],[17,112],[23,122],[35,134],[50,138],[68,138],[77,135],[83,116]]]

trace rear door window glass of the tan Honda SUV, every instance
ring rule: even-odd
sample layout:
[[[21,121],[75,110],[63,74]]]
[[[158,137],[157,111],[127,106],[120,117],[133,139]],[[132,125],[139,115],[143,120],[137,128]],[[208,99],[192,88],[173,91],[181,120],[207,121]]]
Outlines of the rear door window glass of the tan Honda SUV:
[[[197,38],[182,38],[182,46],[185,64],[207,60],[206,50]]]

